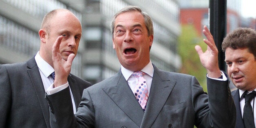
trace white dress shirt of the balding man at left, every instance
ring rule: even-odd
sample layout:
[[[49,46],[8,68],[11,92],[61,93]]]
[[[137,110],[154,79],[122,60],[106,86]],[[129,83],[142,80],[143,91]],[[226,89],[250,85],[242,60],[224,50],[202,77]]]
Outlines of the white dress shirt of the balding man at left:
[[[51,73],[54,72],[53,67],[48,64],[40,55],[39,52],[35,55],[35,62],[38,65],[39,68],[39,72],[42,78],[42,82],[44,84],[44,90],[45,92],[47,92],[47,90],[50,90],[51,88],[53,88],[53,86],[51,86],[53,84],[53,78],[50,76]],[[74,97],[73,94],[71,92],[71,89],[69,88],[70,93],[71,93],[71,99],[72,99],[72,104],[73,104],[73,111],[74,114],[76,113],[76,108],[75,108],[75,101],[74,101]],[[48,92],[47,94],[50,95],[52,92]]]

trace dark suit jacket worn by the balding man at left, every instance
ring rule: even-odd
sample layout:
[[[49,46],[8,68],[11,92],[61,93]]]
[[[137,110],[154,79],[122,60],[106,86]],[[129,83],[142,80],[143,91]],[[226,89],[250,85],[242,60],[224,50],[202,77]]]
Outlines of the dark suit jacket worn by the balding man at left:
[[[68,83],[78,107],[90,83],[74,75],[68,77]],[[0,128],[50,128],[49,121],[49,105],[34,57],[0,65]]]

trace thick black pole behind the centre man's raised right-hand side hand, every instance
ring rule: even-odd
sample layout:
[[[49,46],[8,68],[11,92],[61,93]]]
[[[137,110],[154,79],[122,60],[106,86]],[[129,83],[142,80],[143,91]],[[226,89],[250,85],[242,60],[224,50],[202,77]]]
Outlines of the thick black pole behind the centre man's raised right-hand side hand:
[[[225,54],[221,50],[227,28],[227,0],[210,0],[210,32],[218,48],[218,66],[226,71]]]

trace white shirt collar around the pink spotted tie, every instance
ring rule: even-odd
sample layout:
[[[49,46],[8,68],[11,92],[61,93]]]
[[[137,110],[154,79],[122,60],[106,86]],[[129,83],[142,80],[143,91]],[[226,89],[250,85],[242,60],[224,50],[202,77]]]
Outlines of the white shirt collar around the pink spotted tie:
[[[144,73],[147,73],[149,76],[153,77],[154,67],[152,65],[151,60],[149,61],[149,63],[143,69],[141,69],[141,71],[144,72]],[[129,77],[132,75],[133,71],[130,71],[130,70],[124,68],[124,66],[121,65],[121,73],[124,75],[124,78],[127,81],[129,79]]]

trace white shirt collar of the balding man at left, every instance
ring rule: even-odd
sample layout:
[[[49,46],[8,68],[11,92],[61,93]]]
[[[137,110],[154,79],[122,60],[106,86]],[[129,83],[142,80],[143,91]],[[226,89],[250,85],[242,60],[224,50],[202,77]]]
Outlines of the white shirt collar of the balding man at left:
[[[38,65],[38,68],[40,69],[40,71],[44,74],[45,77],[49,77],[49,75],[51,75],[51,73],[54,72],[53,67],[48,64],[40,55],[39,55],[39,51],[38,53],[35,55],[35,62]]]

